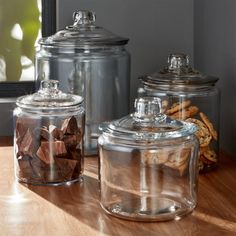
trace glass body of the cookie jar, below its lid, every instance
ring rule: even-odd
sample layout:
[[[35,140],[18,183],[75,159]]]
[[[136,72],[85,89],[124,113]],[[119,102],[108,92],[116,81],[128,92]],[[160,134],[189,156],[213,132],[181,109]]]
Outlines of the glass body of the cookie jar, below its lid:
[[[201,89],[194,88],[193,90],[163,91],[160,88],[149,88],[148,86],[144,86],[143,89],[141,96],[158,97],[163,104],[168,104],[168,107],[163,108],[164,113],[168,113],[168,110],[175,104],[190,102],[186,109],[179,109],[169,115],[179,120],[190,120],[199,126],[202,132],[197,134],[200,140],[200,173],[208,172],[217,167],[219,160],[219,90],[216,87],[205,87]],[[205,116],[208,120],[205,122],[209,124],[209,128],[212,124],[212,128],[217,133],[215,137],[203,121]]]

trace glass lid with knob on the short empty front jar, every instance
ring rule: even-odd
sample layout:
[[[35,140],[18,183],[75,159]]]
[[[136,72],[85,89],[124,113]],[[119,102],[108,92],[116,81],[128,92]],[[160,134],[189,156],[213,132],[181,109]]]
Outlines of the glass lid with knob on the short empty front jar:
[[[100,129],[109,136],[133,140],[155,141],[186,137],[197,131],[196,125],[173,120],[162,114],[161,100],[157,97],[143,97],[135,100],[135,112]]]

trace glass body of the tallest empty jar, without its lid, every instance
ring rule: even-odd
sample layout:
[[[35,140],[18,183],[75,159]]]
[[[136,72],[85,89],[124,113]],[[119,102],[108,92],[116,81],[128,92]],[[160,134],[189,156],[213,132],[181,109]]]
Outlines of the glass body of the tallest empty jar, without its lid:
[[[57,51],[57,50],[56,50]],[[63,91],[85,98],[85,153],[97,153],[98,126],[129,113],[130,56],[123,46],[107,50],[36,54],[36,73],[57,79]]]

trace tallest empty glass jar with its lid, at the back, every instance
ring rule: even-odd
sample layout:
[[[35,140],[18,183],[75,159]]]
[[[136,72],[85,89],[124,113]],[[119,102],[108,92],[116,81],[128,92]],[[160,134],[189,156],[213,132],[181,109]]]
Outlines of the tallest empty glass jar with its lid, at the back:
[[[73,17],[73,25],[39,41],[36,78],[57,78],[62,91],[84,97],[85,154],[97,154],[99,124],[129,113],[128,39],[96,26],[93,12]]]

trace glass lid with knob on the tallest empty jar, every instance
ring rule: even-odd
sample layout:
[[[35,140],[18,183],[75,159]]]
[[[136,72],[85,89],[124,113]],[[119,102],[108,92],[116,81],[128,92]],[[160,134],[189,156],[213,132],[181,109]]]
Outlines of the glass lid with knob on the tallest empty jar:
[[[64,30],[58,31],[48,38],[42,38],[39,44],[83,48],[86,46],[124,45],[129,40],[96,26],[94,12],[77,11],[74,12],[73,19],[73,25],[67,26]]]

